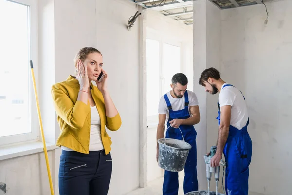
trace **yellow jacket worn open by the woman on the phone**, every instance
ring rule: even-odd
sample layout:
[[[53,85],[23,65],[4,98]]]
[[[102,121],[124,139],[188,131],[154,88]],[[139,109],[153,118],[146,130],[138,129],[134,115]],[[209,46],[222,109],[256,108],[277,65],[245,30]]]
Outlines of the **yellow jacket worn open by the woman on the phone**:
[[[61,133],[58,137],[57,146],[65,146],[80,153],[89,153],[89,137],[91,112],[89,101],[87,105],[77,101],[80,85],[77,79],[69,76],[67,80],[55,83],[51,92],[54,100],[57,120]],[[121,117],[107,117],[102,93],[91,83],[91,94],[94,99],[101,121],[101,140],[108,154],[111,150],[111,138],[106,132],[105,126],[111,131],[120,128]]]

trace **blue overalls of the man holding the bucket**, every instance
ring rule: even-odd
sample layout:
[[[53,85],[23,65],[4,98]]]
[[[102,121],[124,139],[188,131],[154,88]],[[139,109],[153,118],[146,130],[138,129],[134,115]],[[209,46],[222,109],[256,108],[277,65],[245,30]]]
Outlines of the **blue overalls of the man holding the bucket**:
[[[164,95],[164,99],[169,110],[169,119],[167,122],[167,127],[169,127],[170,125],[169,121],[173,119],[187,119],[190,117],[188,111],[189,101],[187,91],[184,93],[185,104],[183,110],[173,111],[170,101],[166,94]],[[183,133],[184,140],[192,146],[184,166],[183,190],[184,194],[186,194],[188,192],[198,190],[197,146],[196,146],[197,132],[193,125],[180,125],[180,129]],[[166,131],[165,137],[183,140],[181,132],[173,127],[170,127]],[[163,195],[178,195],[178,190],[179,190],[178,172],[170,172],[165,170],[163,182]]]

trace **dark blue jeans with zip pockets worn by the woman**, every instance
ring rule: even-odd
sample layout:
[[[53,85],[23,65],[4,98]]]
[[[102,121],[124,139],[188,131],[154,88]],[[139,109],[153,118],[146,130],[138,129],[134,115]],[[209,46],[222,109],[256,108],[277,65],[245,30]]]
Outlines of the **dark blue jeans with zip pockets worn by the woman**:
[[[112,171],[110,153],[83,154],[62,150],[59,168],[60,195],[107,195]]]

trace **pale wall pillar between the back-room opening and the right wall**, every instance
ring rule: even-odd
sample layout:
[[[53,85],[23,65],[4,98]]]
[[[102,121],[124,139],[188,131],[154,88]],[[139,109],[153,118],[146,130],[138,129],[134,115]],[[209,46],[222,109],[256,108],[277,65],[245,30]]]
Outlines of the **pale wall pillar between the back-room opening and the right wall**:
[[[210,146],[216,144],[218,123],[216,123],[218,96],[207,95],[199,85],[201,72],[206,68],[220,66],[220,10],[208,0],[193,2],[194,10],[194,91],[200,108],[200,123],[195,126],[197,135],[197,170],[199,189],[207,189],[206,165],[203,156]],[[216,137],[215,137],[216,136]],[[220,187],[219,187],[220,189]],[[215,181],[211,182],[215,190]]]

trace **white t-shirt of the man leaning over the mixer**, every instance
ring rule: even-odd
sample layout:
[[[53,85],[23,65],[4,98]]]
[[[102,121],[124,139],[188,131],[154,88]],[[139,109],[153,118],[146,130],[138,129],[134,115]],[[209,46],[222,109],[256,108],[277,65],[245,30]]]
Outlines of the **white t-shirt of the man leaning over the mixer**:
[[[241,92],[233,87],[224,85],[228,83],[224,83],[222,85],[220,94],[219,94],[219,104],[222,106],[231,106],[231,118],[230,125],[241,130],[247,123],[248,113],[247,113],[247,105],[243,98]]]

